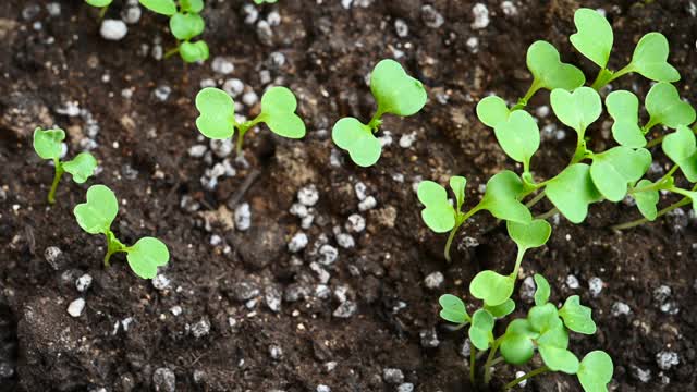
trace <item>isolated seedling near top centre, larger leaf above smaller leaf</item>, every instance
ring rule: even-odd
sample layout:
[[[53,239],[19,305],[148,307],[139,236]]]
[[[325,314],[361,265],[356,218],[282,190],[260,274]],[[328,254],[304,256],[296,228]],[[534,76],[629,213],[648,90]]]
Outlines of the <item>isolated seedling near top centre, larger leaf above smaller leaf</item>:
[[[340,119],[331,132],[334,144],[348,151],[354,163],[364,168],[375,164],[382,154],[382,145],[374,135],[382,114],[415,114],[428,98],[421,82],[407,75],[399,62],[390,59],[380,61],[372,70],[370,91],[378,103],[377,124],[364,124],[348,117]]]

